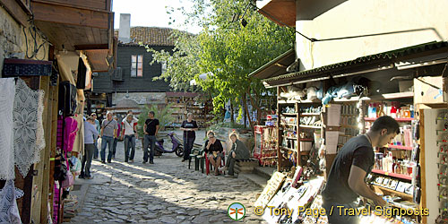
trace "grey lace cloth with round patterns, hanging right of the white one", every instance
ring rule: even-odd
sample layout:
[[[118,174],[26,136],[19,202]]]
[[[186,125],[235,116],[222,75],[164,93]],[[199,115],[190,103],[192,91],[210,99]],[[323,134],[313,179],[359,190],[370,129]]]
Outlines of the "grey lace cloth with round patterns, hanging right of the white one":
[[[31,90],[18,79],[15,86],[13,108],[14,159],[15,165],[26,177],[30,166],[39,162],[40,151],[45,148],[44,90]]]

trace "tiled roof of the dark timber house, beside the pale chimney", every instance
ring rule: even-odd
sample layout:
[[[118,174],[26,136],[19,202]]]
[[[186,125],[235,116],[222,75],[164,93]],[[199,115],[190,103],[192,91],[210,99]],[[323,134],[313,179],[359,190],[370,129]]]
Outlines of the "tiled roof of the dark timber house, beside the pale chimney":
[[[120,43],[120,45],[135,46],[142,42],[149,46],[174,47],[174,39],[169,38],[172,32],[173,29],[163,27],[131,27],[131,43]],[[114,34],[118,37],[118,30],[115,30]]]

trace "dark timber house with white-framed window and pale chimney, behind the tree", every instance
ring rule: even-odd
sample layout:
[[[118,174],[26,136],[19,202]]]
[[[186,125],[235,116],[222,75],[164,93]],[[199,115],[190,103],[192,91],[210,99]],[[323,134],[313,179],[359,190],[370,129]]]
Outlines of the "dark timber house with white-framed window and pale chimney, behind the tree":
[[[130,27],[130,14],[121,14],[120,29],[116,30],[118,38],[116,70],[98,73],[93,80],[91,104],[104,104],[113,108],[121,100],[134,100],[140,106],[148,104],[165,104],[165,92],[169,91],[168,82],[153,81],[166,68],[154,63],[152,53],[142,45],[155,50],[172,51],[173,32],[169,28]],[[99,94],[103,94],[101,98]],[[106,96],[104,96],[106,94]],[[98,109],[98,108],[95,108]]]

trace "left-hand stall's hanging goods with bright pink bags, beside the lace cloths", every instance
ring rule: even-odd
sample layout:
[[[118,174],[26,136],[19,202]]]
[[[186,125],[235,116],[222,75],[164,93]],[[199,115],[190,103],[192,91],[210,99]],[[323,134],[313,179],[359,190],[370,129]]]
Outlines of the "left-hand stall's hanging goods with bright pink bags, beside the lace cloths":
[[[63,80],[59,84],[59,104],[57,107],[57,142],[54,158],[55,178],[53,220],[62,223],[74,217],[77,199],[70,195],[73,180],[80,174],[83,155],[84,139],[84,87],[86,79],[90,77],[90,68],[85,61],[85,56],[75,52],[64,55],[56,55],[58,68]],[[72,71],[77,71],[73,75]],[[66,219],[67,218],[67,219]]]

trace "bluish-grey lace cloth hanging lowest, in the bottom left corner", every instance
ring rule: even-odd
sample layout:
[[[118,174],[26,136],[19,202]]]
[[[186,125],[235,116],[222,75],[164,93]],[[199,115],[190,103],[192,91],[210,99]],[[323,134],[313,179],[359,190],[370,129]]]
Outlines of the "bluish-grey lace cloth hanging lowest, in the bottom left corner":
[[[23,191],[14,187],[13,180],[7,180],[0,190],[0,223],[22,224],[16,200],[23,196]]]

